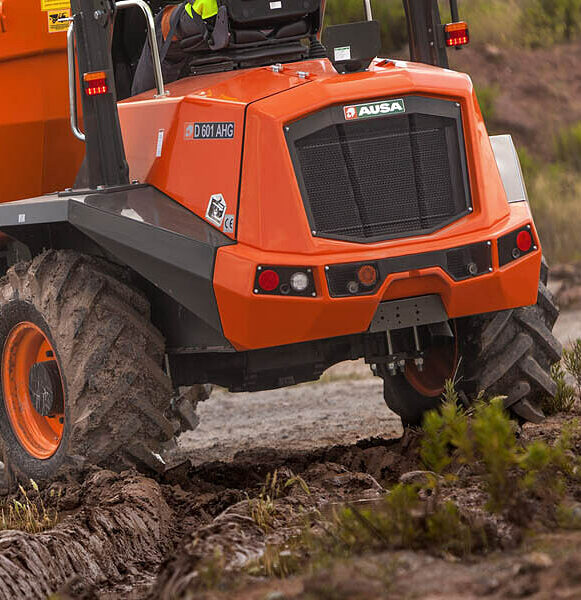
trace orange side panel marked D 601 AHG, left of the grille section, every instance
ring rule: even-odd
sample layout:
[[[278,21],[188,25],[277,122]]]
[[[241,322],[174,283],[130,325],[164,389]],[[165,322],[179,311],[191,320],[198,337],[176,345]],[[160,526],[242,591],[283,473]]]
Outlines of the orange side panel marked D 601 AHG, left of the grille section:
[[[202,218],[210,198],[221,194],[236,222],[247,107],[304,83],[296,74],[244,70],[178,81],[168,86],[167,99],[147,92],[121,102],[131,179],[154,185]],[[210,129],[218,125],[220,132]]]

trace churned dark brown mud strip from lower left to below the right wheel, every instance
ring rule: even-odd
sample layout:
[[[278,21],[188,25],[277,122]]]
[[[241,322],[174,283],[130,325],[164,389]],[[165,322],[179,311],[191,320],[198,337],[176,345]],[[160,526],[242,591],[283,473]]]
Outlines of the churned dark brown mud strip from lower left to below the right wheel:
[[[231,463],[180,466],[163,480],[132,472],[94,470],[62,490],[61,522],[41,534],[0,533],[0,597],[185,597],[197,565],[218,552],[226,572],[250,564],[267,543],[300,526],[305,510],[377,498],[377,477],[400,474],[405,445],[369,440],[315,452],[254,451]],[[277,506],[280,522],[268,536],[250,516],[268,473],[301,474]],[[49,498],[50,490],[47,490]],[[164,563],[165,561],[165,563]],[[153,586],[153,587],[152,587]]]

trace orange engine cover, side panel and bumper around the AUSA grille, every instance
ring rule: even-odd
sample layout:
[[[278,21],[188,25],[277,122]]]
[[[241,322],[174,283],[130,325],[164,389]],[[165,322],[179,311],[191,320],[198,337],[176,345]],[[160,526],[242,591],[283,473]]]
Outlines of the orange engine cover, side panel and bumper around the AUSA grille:
[[[300,71],[306,72],[300,73]],[[338,75],[326,60],[182,80],[168,99],[152,94],[122,103],[132,177],[205,218],[223,194],[237,244],[219,249],[214,290],[226,338],[237,350],[266,348],[367,331],[380,302],[439,294],[450,318],[534,304],[541,250],[500,268],[499,237],[532,224],[528,204],[509,204],[470,78],[402,62]],[[443,98],[462,110],[473,212],[428,235],[377,243],[314,236],[285,139],[286,125],[329,106],[406,95]],[[235,124],[232,139],[186,139],[188,123]],[[160,131],[163,149],[159,152]],[[160,155],[161,154],[161,155]],[[325,266],[439,251],[490,241],[492,272],[463,281],[440,268],[392,274],[371,296],[332,298]],[[254,293],[259,265],[311,267],[317,296]]]

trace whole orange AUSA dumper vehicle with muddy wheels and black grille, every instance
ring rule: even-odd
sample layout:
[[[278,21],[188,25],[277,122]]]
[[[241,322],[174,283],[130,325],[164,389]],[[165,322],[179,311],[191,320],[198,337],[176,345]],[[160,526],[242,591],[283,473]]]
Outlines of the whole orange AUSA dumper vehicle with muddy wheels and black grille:
[[[558,310],[512,139],[448,68],[456,1],[404,0],[404,61],[369,0],[322,36],[321,0],[219,0],[199,43],[166,32],[171,80],[167,4],[0,1],[9,472],[162,471],[200,386],[360,358],[405,425],[448,379],[541,420]]]

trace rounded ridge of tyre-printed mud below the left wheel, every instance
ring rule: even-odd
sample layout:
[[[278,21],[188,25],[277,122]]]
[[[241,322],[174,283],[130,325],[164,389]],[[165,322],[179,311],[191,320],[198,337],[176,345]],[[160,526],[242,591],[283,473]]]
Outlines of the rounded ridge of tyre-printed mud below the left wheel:
[[[63,491],[61,509],[71,514],[54,529],[0,534],[2,598],[46,598],[65,584],[78,591],[142,581],[144,565],[154,571],[171,550],[175,515],[157,482],[96,471]]]

